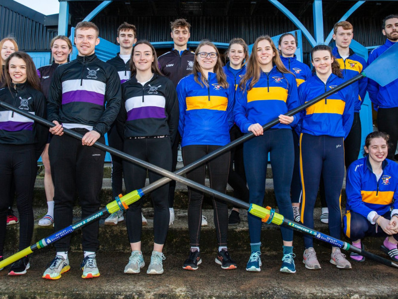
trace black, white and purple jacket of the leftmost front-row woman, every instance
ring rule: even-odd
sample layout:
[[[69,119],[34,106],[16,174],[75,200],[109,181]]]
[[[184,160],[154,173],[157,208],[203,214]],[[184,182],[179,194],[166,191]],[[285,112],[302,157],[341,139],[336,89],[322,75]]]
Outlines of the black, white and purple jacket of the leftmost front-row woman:
[[[0,89],[0,100],[21,111],[46,117],[44,95],[28,83],[15,84]],[[48,129],[33,120],[0,107],[0,144],[36,146],[37,158],[47,142]]]

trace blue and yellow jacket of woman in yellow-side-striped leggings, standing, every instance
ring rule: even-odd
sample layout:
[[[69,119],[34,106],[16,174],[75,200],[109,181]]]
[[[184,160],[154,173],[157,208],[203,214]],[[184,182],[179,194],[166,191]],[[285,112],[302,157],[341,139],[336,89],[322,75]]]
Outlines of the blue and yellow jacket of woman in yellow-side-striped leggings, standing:
[[[323,83],[316,75],[298,87],[300,105],[342,84],[345,80],[331,74]],[[354,119],[354,93],[350,86],[339,90],[301,112],[296,131],[314,136],[346,138]]]

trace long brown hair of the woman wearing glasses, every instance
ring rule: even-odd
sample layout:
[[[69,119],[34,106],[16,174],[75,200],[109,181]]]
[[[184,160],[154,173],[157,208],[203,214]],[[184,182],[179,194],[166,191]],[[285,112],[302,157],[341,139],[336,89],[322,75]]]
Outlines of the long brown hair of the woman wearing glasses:
[[[227,75],[224,73],[224,70],[223,70],[223,63],[221,62],[220,53],[219,53],[217,47],[214,45],[214,43],[212,43],[208,39],[202,40],[199,43],[199,45],[198,45],[198,47],[196,48],[196,51],[195,51],[195,59],[194,59],[194,62],[193,62],[193,71],[192,71],[195,81],[202,87],[203,86],[206,86],[206,87],[209,86],[209,84],[206,82],[205,75],[203,74],[202,69],[199,66],[198,59],[197,59],[199,50],[204,45],[208,45],[208,46],[213,47],[214,51],[217,53],[217,61],[216,61],[216,65],[214,66],[214,73],[216,74],[216,77],[217,77],[217,83],[220,84],[220,86],[222,88],[228,88]],[[199,81],[199,73],[201,74],[201,80],[200,81]]]

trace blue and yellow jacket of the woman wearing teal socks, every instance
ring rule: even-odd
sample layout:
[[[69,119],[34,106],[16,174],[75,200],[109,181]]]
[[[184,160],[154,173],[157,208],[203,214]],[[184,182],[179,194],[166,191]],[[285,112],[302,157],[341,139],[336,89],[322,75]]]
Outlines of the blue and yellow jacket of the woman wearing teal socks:
[[[276,119],[280,114],[298,107],[297,84],[292,74],[282,74],[274,66],[269,74],[262,72],[259,81],[251,90],[245,91],[238,87],[235,102],[235,122],[242,133],[248,133],[248,128],[259,123]],[[297,117],[290,125],[277,124],[273,129],[291,129],[297,124]]]

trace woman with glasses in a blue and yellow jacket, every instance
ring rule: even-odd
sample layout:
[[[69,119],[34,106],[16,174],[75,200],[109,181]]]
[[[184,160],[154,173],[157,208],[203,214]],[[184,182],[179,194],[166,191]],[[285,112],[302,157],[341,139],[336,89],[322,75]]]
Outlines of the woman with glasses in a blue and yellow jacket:
[[[187,165],[209,152],[230,142],[233,123],[235,86],[227,79],[216,46],[202,41],[195,51],[193,74],[182,78],[177,85],[180,110],[178,131],[181,135],[182,158]],[[228,180],[230,152],[224,153],[206,163],[210,186],[225,192]],[[187,177],[201,184],[205,183],[205,165],[187,173]],[[202,262],[199,241],[202,221],[203,192],[188,188],[188,229],[190,255],[183,269],[196,270]],[[235,269],[236,263],[227,250],[228,207],[221,200],[213,198],[214,224],[218,241],[216,263],[223,269]]]

